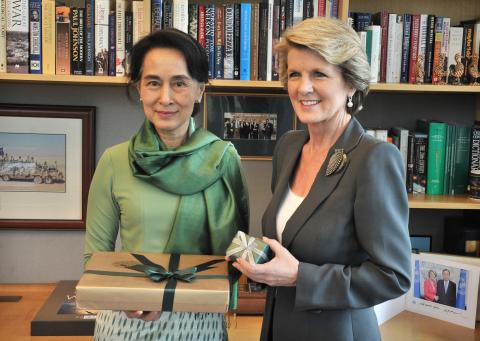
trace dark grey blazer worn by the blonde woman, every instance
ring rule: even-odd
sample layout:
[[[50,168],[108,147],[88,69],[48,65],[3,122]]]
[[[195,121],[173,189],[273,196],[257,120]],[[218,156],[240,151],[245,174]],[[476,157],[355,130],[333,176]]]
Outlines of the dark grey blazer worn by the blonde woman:
[[[293,131],[277,143],[262,219],[269,238],[277,238],[277,211],[307,140],[307,132]],[[348,163],[326,176],[339,148]],[[404,173],[398,149],[352,118],[285,226],[282,244],[300,262],[297,284],[268,289],[261,340],[380,339],[373,306],[410,287]]]

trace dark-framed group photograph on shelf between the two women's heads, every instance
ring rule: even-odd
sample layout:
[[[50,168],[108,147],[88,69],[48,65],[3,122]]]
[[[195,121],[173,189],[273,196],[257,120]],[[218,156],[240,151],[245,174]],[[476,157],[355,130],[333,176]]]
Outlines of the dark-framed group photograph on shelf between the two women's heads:
[[[276,141],[295,129],[286,94],[206,93],[204,105],[204,127],[231,141],[242,159],[271,159]]]

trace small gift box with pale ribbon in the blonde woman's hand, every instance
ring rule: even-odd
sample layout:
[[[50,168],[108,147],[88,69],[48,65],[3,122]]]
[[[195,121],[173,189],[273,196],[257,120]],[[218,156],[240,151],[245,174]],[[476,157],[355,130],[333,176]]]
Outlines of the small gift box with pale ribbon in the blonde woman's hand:
[[[243,258],[252,265],[262,264],[268,262],[269,250],[268,245],[261,239],[238,231],[227,249],[227,256],[233,261],[237,258]]]

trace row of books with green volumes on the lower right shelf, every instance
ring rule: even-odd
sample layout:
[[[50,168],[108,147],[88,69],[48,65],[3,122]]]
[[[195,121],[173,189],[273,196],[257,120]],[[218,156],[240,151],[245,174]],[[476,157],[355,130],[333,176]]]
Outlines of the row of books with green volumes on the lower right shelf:
[[[477,196],[472,184],[480,175],[480,126],[417,120],[415,131],[394,127],[366,132],[398,147],[408,193]]]

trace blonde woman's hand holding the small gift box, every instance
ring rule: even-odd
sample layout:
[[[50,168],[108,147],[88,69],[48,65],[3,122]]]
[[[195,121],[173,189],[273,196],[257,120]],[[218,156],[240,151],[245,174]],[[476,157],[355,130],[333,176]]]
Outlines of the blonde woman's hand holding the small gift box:
[[[295,286],[299,261],[275,239],[263,237],[263,241],[275,253],[275,257],[271,261],[265,264],[251,265],[246,260],[237,258],[232,265],[255,282],[273,287]]]

